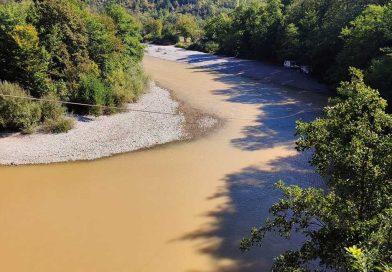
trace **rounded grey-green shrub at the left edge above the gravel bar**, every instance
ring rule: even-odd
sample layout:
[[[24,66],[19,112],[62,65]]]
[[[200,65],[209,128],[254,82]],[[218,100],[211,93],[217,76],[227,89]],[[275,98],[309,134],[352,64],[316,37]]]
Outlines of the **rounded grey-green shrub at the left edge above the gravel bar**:
[[[15,97],[4,97],[12,95]],[[23,97],[23,98],[16,98]],[[41,107],[38,102],[27,98],[31,96],[17,84],[0,82],[0,127],[31,131],[41,119]]]

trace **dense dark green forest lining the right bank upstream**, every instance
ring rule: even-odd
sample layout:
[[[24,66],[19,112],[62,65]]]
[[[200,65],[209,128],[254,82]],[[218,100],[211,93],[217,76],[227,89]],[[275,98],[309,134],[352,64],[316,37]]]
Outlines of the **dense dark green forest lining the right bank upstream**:
[[[201,19],[163,11],[140,15],[145,40],[178,43],[211,53],[312,67],[313,76],[336,87],[348,68],[392,101],[392,3],[388,0],[265,0],[237,2]]]

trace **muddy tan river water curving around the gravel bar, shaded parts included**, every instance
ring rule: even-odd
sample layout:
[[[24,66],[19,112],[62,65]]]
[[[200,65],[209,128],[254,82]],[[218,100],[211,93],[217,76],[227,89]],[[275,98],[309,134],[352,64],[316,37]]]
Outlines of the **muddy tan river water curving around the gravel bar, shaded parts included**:
[[[0,271],[266,271],[287,246],[270,237],[242,254],[238,241],[279,196],[276,180],[319,182],[292,134],[320,97],[149,57],[145,67],[179,99],[230,119],[192,142],[1,167]]]

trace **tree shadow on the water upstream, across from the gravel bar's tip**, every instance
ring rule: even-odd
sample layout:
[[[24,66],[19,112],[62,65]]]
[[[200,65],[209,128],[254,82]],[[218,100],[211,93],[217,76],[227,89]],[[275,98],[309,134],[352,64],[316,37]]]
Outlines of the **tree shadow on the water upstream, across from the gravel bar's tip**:
[[[243,136],[231,140],[235,147],[246,151],[292,143],[296,120],[314,120],[322,112],[320,101],[325,101],[325,96],[319,94],[238,77],[221,76],[218,80],[230,84],[231,88],[215,91],[215,95],[225,96],[231,103],[259,105],[255,124],[245,126]]]

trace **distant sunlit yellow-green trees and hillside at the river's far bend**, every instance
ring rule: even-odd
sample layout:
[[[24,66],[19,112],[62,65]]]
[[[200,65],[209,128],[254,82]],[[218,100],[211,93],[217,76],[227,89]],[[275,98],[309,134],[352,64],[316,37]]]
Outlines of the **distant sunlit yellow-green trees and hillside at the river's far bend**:
[[[248,0],[246,0],[248,1]],[[85,0],[102,7],[105,0]],[[177,44],[180,37],[199,40],[205,19],[233,10],[237,0],[112,0],[131,11],[138,19],[146,42]]]

